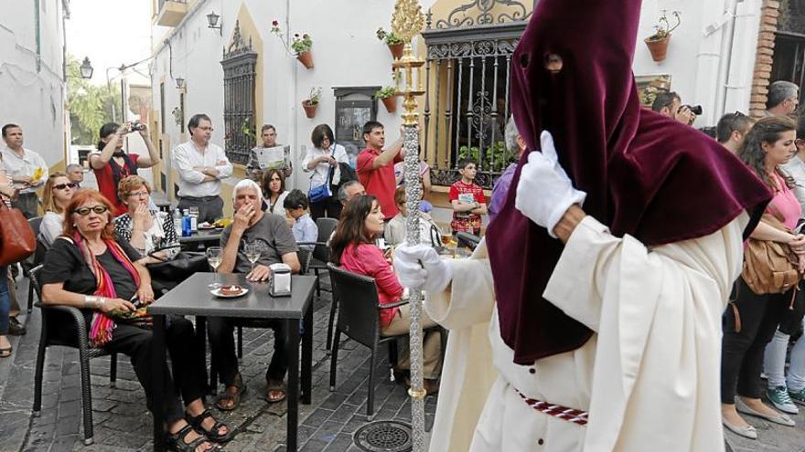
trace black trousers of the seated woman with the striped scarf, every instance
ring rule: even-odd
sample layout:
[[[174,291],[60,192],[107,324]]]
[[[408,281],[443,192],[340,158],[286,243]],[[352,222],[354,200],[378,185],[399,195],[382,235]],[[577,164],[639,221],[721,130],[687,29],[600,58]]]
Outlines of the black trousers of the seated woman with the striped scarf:
[[[167,363],[162,370],[163,381],[155,382],[151,373],[151,330],[133,325],[118,324],[112,334],[112,341],[104,345],[110,352],[123,353],[131,358],[137,380],[145,389],[145,401],[153,411],[155,384],[162,385],[164,399],[161,401],[163,413],[168,424],[173,424],[185,416],[179,401],[182,395],[185,405],[199,399],[206,388],[206,361],[201,349],[196,346],[193,324],[181,317],[170,317],[166,329],[166,348],[173,364],[173,377],[167,371]]]

